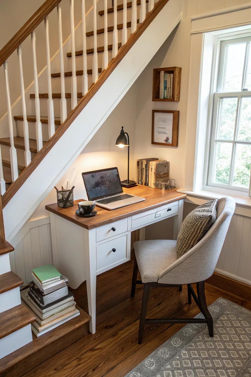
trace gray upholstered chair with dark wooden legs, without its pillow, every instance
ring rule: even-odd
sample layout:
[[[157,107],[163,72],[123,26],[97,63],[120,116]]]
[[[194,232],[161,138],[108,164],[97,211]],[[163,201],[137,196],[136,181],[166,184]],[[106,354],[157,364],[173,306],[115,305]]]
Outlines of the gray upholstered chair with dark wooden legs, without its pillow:
[[[213,274],[216,267],[234,209],[233,198],[219,199],[216,221],[205,236],[179,259],[176,259],[176,241],[154,240],[134,243],[135,262],[131,297],[134,297],[136,284],[144,284],[138,343],[142,341],[145,323],[207,323],[209,335],[213,337],[213,319],[205,299],[205,280]],[[138,270],[142,280],[137,280]],[[191,286],[193,283],[196,283],[197,296]],[[146,319],[151,287],[181,287],[183,284],[187,284],[188,302],[192,302],[193,296],[205,319]]]

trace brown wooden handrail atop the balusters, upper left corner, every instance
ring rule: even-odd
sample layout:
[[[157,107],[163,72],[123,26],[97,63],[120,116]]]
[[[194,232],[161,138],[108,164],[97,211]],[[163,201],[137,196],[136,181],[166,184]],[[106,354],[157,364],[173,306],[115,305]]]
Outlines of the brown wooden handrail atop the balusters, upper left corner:
[[[20,30],[9,40],[0,51],[0,67],[11,56],[18,46],[37,28],[44,18],[61,2],[61,0],[46,0],[29,18]]]

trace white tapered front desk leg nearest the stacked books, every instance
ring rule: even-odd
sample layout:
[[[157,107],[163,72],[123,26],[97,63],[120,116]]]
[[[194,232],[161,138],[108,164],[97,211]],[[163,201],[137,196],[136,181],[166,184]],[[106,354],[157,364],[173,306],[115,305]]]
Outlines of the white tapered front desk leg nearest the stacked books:
[[[96,332],[96,228],[85,229],[85,268],[90,333]]]

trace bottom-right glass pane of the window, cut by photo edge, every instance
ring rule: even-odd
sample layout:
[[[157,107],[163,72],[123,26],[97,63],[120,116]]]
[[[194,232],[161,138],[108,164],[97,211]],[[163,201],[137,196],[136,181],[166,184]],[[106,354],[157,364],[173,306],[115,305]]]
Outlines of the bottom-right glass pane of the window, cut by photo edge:
[[[249,187],[251,145],[236,144],[233,186]]]

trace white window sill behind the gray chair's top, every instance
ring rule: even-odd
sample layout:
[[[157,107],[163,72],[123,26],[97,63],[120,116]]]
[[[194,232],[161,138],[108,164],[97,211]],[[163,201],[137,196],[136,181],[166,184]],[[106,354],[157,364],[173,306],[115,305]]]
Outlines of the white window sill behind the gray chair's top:
[[[239,195],[237,196],[237,195],[233,195],[233,194],[236,194],[236,191],[234,190],[231,190],[233,191],[233,194],[229,192],[230,190],[227,190],[227,191],[224,190],[225,192],[223,192],[223,190],[221,192],[220,190],[218,192],[206,191],[206,190],[198,190],[196,192],[193,192],[193,191],[187,191],[186,189],[178,189],[177,191],[183,194],[187,194],[188,201],[194,202],[195,204],[199,204],[199,202],[196,202],[194,200],[191,201],[189,197],[208,200],[208,199],[218,199],[218,198],[221,198],[222,196],[231,196],[235,200],[236,205],[238,207],[251,209],[251,198],[249,198],[247,192],[240,192],[238,193]]]

